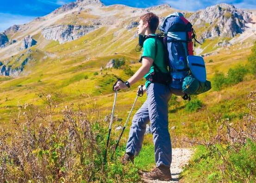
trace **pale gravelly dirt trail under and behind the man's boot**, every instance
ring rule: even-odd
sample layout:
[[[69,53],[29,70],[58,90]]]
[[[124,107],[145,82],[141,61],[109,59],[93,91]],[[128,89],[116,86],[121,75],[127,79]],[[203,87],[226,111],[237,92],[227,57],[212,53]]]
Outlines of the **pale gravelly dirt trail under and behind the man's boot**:
[[[172,164],[171,164],[171,181],[159,181],[159,180],[146,180],[145,183],[179,183],[179,176],[182,171],[182,167],[186,165],[194,153],[194,149],[188,148],[173,148],[172,149]]]

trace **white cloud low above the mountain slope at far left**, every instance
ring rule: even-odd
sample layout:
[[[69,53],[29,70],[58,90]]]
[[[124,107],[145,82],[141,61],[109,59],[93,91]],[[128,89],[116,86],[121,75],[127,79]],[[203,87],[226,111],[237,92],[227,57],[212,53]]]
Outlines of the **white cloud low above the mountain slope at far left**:
[[[30,22],[36,17],[23,16],[23,15],[12,15],[9,13],[0,13],[0,32],[6,30],[12,25],[20,25]]]

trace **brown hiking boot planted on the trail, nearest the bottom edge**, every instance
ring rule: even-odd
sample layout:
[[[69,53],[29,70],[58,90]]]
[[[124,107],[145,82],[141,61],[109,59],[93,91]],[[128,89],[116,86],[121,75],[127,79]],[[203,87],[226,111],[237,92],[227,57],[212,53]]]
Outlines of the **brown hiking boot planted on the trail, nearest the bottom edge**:
[[[172,179],[169,166],[160,165],[150,172],[144,172],[143,177],[150,180],[170,181]]]

